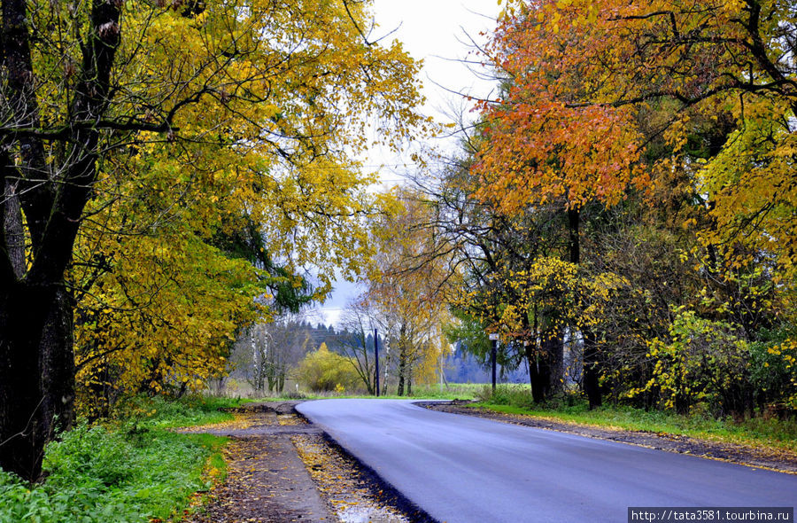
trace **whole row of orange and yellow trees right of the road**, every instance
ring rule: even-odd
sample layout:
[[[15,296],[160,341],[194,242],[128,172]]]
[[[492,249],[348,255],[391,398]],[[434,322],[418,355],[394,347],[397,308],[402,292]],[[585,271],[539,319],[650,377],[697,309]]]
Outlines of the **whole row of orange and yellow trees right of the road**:
[[[537,402],[793,414],[793,3],[503,4],[397,274],[439,268],[451,340],[498,333]]]

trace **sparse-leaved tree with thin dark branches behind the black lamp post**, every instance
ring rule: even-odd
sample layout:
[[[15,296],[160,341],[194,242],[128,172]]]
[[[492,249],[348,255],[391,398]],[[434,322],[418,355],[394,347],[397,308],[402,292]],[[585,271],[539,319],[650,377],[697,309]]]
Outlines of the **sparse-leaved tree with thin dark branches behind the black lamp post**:
[[[550,301],[544,305],[541,294],[537,301],[526,293],[522,280],[539,260],[567,258],[566,222],[553,205],[507,215],[479,198],[478,178],[470,170],[479,143],[473,137],[463,144],[462,158],[450,160],[438,183],[426,186],[434,202],[426,226],[434,230],[435,242],[425,255],[447,259],[452,281],[460,288],[448,297],[459,319],[448,329],[451,340],[462,340],[481,357],[489,347],[484,332],[500,333],[502,368],[515,369],[526,360],[535,400],[542,401],[560,385],[566,332],[562,320],[576,316],[576,304],[564,299],[568,291],[561,293],[558,307],[552,308]]]

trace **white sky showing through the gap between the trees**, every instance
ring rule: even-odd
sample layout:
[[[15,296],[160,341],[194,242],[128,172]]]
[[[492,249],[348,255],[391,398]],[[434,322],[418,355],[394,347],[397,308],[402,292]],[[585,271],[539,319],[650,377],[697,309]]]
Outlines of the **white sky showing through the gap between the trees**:
[[[374,15],[378,27],[370,38],[387,36],[384,43],[398,39],[404,43],[405,51],[414,59],[423,60],[421,80],[423,94],[427,103],[424,113],[438,121],[450,121],[452,107],[460,107],[466,102],[457,94],[466,93],[476,98],[488,96],[494,88],[492,82],[477,77],[471,70],[476,68],[462,63],[463,59],[476,59],[469,51],[474,51],[470,39],[480,46],[486,37],[480,33],[490,33],[495,27],[499,13],[496,0],[375,0]],[[455,138],[445,143],[434,144],[451,149]],[[377,155],[379,153],[376,153]],[[368,164],[382,165],[380,175],[385,183],[392,184],[400,179],[396,165],[400,158],[375,157]],[[357,294],[354,284],[338,281],[335,291],[321,308],[321,316],[315,321],[337,324],[341,312],[348,301]]]

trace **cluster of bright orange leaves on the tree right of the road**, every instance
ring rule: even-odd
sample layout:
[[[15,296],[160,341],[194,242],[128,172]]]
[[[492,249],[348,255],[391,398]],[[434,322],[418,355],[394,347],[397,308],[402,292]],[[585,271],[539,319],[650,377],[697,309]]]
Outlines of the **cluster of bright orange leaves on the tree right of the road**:
[[[491,44],[493,66],[512,84],[498,104],[483,104],[486,139],[473,169],[484,182],[478,196],[507,214],[561,199],[567,207],[611,206],[631,186],[646,186],[632,113],[586,98],[594,94],[587,82],[603,82],[570,66],[578,51],[561,51],[579,44],[573,32],[584,37],[571,16],[584,6],[575,4],[540,4],[536,22],[507,20]],[[557,35],[560,23],[567,35]]]

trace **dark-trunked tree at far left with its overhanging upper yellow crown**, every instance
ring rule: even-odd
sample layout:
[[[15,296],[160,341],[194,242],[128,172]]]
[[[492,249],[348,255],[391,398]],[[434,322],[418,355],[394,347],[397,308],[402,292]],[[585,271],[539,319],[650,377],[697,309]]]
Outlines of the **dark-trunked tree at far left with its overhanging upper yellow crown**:
[[[173,191],[227,184],[200,206],[213,217],[192,231],[202,241],[225,215],[213,208],[221,201],[267,216],[271,253],[320,267],[321,293],[334,265],[358,269],[357,218],[372,200],[351,155],[374,121],[391,144],[420,123],[417,67],[398,44],[364,41],[366,10],[325,0],[3,4],[4,470],[35,480],[43,445],[71,424],[65,274],[81,226],[115,202],[157,206],[169,194],[174,210]],[[117,224],[142,225],[135,216]]]

